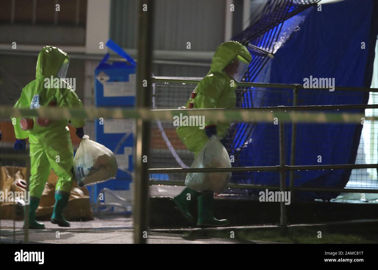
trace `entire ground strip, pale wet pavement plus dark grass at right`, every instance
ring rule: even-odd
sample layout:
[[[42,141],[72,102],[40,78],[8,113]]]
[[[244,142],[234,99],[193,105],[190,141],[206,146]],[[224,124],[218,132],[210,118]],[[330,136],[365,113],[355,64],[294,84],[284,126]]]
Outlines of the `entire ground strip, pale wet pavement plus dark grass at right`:
[[[102,216],[95,220],[71,222],[62,228],[44,222],[45,230],[29,230],[29,242],[50,244],[132,244],[130,217]],[[23,243],[22,221],[1,220],[0,243]],[[287,227],[256,225],[220,228],[151,229],[149,244],[274,244],[274,243],[377,243],[377,219],[350,220]],[[319,238],[319,231],[322,237]],[[231,235],[234,237],[232,238]]]

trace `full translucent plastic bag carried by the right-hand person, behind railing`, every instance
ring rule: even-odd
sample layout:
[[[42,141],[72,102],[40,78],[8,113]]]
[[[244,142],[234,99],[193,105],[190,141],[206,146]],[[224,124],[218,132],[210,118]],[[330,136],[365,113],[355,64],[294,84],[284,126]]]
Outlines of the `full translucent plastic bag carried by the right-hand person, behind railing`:
[[[226,148],[220,138],[213,135],[201,148],[191,168],[231,168]],[[195,191],[221,193],[231,178],[231,172],[191,172],[186,175],[185,185]]]

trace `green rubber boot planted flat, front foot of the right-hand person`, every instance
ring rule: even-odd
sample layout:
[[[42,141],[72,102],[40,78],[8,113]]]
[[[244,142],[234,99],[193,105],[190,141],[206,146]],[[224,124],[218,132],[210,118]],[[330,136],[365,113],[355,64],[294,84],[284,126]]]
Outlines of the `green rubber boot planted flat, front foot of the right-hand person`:
[[[214,193],[203,192],[198,196],[198,226],[222,227],[228,223],[227,219],[214,217]]]

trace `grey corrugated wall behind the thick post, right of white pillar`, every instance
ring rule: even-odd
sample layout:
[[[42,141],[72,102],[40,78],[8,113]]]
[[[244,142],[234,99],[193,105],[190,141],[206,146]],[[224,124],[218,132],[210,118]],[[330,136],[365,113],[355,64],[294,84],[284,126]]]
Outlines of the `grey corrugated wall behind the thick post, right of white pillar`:
[[[110,38],[123,48],[137,46],[137,1],[112,0]],[[148,7],[147,7],[148,8]],[[215,51],[223,42],[224,0],[156,0],[155,50]]]

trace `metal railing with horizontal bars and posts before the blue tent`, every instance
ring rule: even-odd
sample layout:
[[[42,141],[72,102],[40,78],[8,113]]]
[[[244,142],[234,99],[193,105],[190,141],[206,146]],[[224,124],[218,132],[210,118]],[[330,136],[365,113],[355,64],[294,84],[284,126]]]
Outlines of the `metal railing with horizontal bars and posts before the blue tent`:
[[[176,84],[198,84],[200,80],[197,79],[171,79],[165,77],[152,77],[152,82],[155,83],[176,83]],[[323,106],[297,106],[297,99],[299,90],[330,90],[330,88],[305,88],[300,84],[267,84],[267,83],[254,83],[242,82],[238,87],[259,87],[259,88],[288,88],[293,90],[293,106],[277,106],[277,107],[256,107],[256,108],[235,108],[230,111],[245,112],[288,112],[288,111],[316,111],[316,110],[362,110],[362,109],[378,109],[378,104],[357,104],[357,105],[323,105]],[[253,90],[253,89],[247,89]],[[350,92],[378,92],[378,88],[359,88],[359,87],[334,87],[333,91],[350,91]],[[332,91],[332,92],[333,92]],[[191,109],[193,110],[193,109]],[[209,110],[209,109],[196,109],[196,110]],[[217,110],[217,109],[215,109]],[[221,109],[222,110],[222,109]],[[223,109],[224,110],[224,109]],[[227,109],[228,110],[228,109]],[[154,110],[158,111],[158,110]],[[170,111],[170,110],[163,110]],[[181,110],[181,112],[183,112]],[[192,111],[193,112],[193,111]],[[366,117],[365,117],[366,118]],[[362,119],[362,118],[361,118]],[[282,120],[282,119],[281,119]],[[338,165],[310,165],[310,166],[294,166],[295,165],[295,141],[296,141],[296,121],[292,121],[292,135],[291,135],[291,154],[290,165],[285,165],[285,155],[283,147],[283,123],[280,121],[280,165],[279,166],[266,166],[266,167],[234,167],[234,168],[161,168],[161,169],[148,169],[149,173],[188,173],[188,172],[241,172],[241,171],[277,171],[280,173],[280,186],[263,186],[263,185],[249,185],[249,184],[233,184],[229,183],[228,188],[246,188],[246,189],[272,189],[285,191],[286,186],[286,173],[290,172],[290,185],[289,190],[294,191],[322,191],[322,192],[365,192],[375,193],[378,189],[359,189],[359,188],[304,188],[294,186],[294,171],[305,170],[333,170],[333,169],[366,169],[378,168],[378,164],[338,164]],[[184,182],[177,181],[158,181],[150,180],[149,185],[178,185],[184,186]],[[291,194],[293,196],[294,194]],[[293,196],[294,197],[294,196]],[[286,206],[283,202],[280,203],[280,225],[287,225],[286,220]]]

